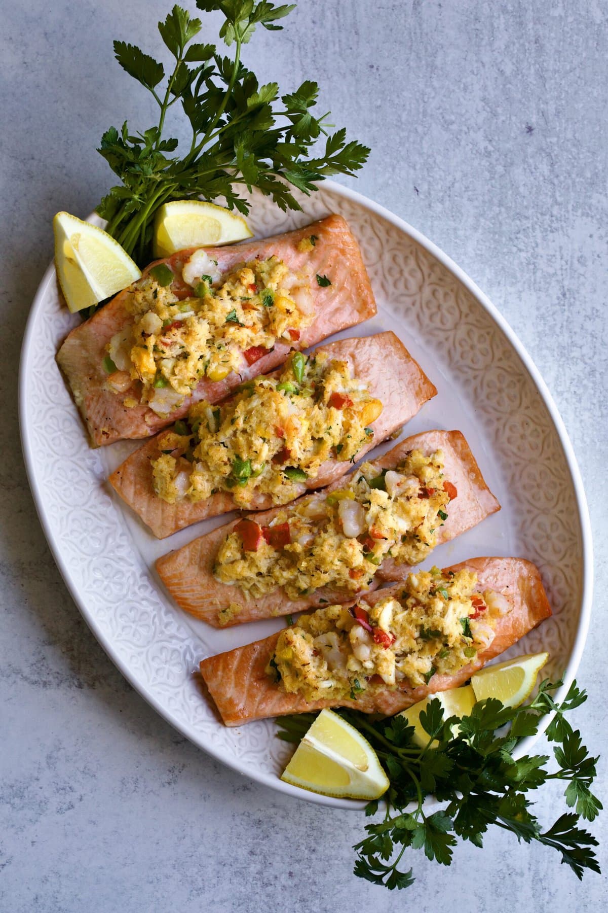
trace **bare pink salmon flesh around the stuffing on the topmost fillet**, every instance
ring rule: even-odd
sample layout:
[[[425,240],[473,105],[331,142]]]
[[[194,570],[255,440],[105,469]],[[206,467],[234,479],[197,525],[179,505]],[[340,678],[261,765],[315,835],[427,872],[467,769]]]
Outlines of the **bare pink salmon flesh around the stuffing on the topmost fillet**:
[[[316,236],[310,253],[298,251],[303,238]],[[313,323],[302,332],[297,348],[304,349],[324,340],[345,327],[352,327],[376,313],[376,301],[369,283],[366,268],[356,238],[341,215],[329,215],[310,226],[298,228],[284,235],[267,237],[245,244],[228,247],[180,250],[171,257],[156,260],[144,270],[144,276],[159,263],[166,263],[176,276],[172,289],[179,298],[191,294],[189,286],[181,281],[181,269],[194,250],[206,249],[225,272],[245,260],[275,255],[293,272],[305,272],[311,279]],[[322,288],[316,275],[327,276],[331,286]],[[258,374],[272,371],[282,364],[294,343],[277,341],[272,352],[252,365],[244,365],[241,374],[232,373],[223,381],[212,383],[203,380],[179,409],[170,415],[160,416],[139,404],[128,408],[123,404],[127,397],[139,402],[139,382],[124,393],[114,393],[108,388],[108,374],[103,368],[106,345],[126,323],[132,320],[125,310],[129,289],[120,291],[93,317],[72,330],[57,352],[57,363],[67,377],[80,413],[87,425],[93,446],[111,444],[122,438],[148,437],[170,425],[188,412],[192,403],[207,399],[217,403],[233,387]]]

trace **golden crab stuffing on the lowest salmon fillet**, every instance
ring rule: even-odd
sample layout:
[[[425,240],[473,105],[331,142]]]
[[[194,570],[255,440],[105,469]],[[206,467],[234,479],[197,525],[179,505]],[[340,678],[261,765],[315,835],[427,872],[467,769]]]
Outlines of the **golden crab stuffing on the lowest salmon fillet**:
[[[267,672],[306,700],[352,698],[368,688],[427,684],[475,659],[494,638],[503,593],[477,590],[477,574],[410,573],[401,593],[376,605],[330,605],[284,628]],[[498,614],[497,614],[498,613]],[[483,621],[480,620],[483,618]]]

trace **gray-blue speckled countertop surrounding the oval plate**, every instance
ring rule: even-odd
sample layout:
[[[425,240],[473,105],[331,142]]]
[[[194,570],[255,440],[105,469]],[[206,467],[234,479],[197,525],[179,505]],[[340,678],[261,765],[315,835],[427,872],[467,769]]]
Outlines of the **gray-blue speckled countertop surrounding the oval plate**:
[[[111,41],[154,52],[169,7],[4,5],[0,908],[605,909],[603,876],[579,884],[549,849],[501,833],[482,852],[459,848],[450,870],[416,854],[407,894],[356,879],[364,821],[294,803],[182,739],[112,666],[61,582],[18,444],[19,345],[52,215],[85,215],[105,192],[95,147],[110,123],[151,122]],[[607,20],[602,0],[301,0],[283,33],[245,52],[283,91],[318,79],[321,107],[373,149],[349,183],[454,257],[541,369],[593,495],[597,595],[579,674],[590,700],[576,722],[594,750],[606,750]],[[604,800],[605,771],[604,759]],[[559,794],[548,792],[544,820]],[[593,824],[604,867],[607,821]]]

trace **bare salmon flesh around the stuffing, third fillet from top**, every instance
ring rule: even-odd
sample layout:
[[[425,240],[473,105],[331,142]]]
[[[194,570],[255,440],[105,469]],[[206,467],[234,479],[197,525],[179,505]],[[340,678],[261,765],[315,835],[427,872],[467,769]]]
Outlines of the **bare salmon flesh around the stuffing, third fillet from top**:
[[[423,432],[407,437],[380,459],[372,461],[372,466],[380,472],[381,469],[396,466],[409,450],[418,449],[428,456],[439,447],[444,454],[445,476],[458,488],[458,498],[451,502],[448,519],[438,530],[438,544],[454,539],[489,514],[500,510],[500,504],[486,485],[464,436],[459,431]],[[327,490],[332,491],[341,485],[344,482],[338,480]],[[255,519],[260,524],[267,524],[278,510],[279,508],[274,508],[256,514]],[[214,627],[220,627],[302,612],[318,605],[320,599],[332,603],[345,603],[352,599],[352,593],[324,589],[290,600],[283,587],[254,598],[243,593],[237,586],[216,581],[213,577],[215,556],[222,541],[232,532],[237,522],[238,519],[232,520],[157,560],[156,568],[160,579],[180,608]],[[397,565],[388,559],[376,572],[376,586],[384,580],[403,580],[410,570],[406,565]],[[241,608],[228,624],[221,625],[218,613],[230,603],[239,603]]]

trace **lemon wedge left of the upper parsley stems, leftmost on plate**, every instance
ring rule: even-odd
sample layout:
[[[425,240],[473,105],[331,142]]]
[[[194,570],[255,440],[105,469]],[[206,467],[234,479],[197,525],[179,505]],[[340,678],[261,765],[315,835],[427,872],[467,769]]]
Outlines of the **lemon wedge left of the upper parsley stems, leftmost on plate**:
[[[98,226],[76,215],[57,213],[53,232],[57,278],[69,310],[97,304],[141,276],[119,242]]]

